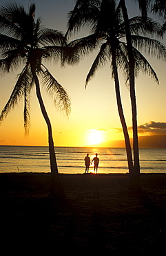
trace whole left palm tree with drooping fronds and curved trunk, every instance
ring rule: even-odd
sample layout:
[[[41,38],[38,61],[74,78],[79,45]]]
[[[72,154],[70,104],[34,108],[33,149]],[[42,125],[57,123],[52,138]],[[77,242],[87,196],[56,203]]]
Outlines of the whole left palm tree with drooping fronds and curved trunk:
[[[70,113],[68,93],[52,76],[48,68],[42,64],[43,60],[50,60],[51,58],[54,60],[63,59],[66,42],[63,34],[58,30],[44,28],[40,18],[35,22],[34,12],[34,4],[30,6],[28,12],[25,12],[23,6],[17,6],[16,3],[8,4],[0,10],[1,72],[9,73],[18,68],[19,65],[23,65],[12,94],[1,111],[0,122],[6,118],[18,100],[23,98],[24,128],[25,134],[28,134],[30,128],[30,92],[35,86],[41,112],[48,127],[51,170],[50,195],[64,198],[65,192],[59,179],[54,153],[52,126],[41,96],[39,76],[45,83],[48,93],[54,98],[56,106],[68,115]]]

